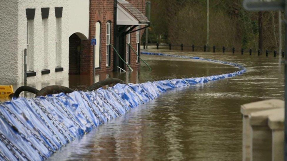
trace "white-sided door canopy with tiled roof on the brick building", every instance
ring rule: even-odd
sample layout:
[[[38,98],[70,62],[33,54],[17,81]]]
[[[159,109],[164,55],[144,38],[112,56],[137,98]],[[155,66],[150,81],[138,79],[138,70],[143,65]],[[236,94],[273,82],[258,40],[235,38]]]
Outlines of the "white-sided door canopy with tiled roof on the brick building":
[[[148,18],[128,1],[118,0],[117,25],[148,25]]]

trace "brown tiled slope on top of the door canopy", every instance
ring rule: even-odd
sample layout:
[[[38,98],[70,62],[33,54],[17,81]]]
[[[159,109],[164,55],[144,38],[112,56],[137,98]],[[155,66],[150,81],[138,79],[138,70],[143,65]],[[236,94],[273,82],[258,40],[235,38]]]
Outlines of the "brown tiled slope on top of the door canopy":
[[[128,1],[118,0],[118,4],[136,18],[139,23],[149,23],[148,18]]]

